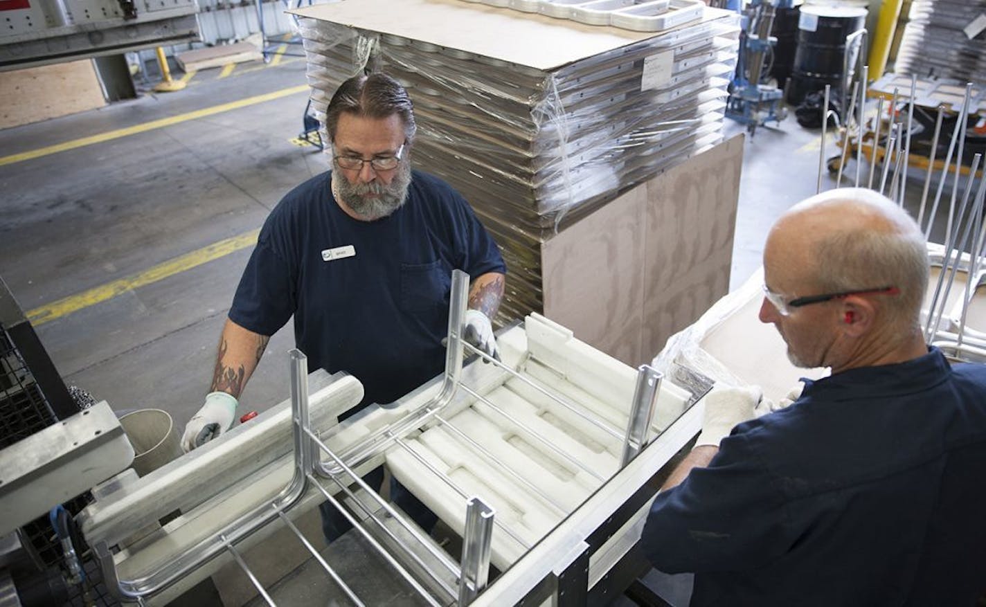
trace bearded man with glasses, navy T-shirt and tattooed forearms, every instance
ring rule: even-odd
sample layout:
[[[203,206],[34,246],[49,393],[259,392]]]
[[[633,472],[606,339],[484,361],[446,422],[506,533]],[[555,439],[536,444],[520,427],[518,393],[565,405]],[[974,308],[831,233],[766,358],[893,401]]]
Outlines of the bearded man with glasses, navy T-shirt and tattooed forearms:
[[[230,308],[211,392],[185,427],[190,450],[226,432],[270,336],[294,316],[309,369],[347,371],[371,403],[390,403],[442,372],[452,271],[471,278],[463,336],[497,356],[491,319],[506,266],[468,203],[411,169],[416,125],[407,92],[385,74],[340,85],[326,110],[333,169],[271,212]],[[380,487],[383,468],[365,480]],[[391,499],[422,527],[435,515],[399,485]],[[349,524],[323,505],[326,540]]]

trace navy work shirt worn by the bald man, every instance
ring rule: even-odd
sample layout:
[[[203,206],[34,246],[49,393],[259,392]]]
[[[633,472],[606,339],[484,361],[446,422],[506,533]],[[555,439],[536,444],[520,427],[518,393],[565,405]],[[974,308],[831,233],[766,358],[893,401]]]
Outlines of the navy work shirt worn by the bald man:
[[[651,507],[692,605],[970,606],[986,589],[986,366],[937,349],[807,385]]]

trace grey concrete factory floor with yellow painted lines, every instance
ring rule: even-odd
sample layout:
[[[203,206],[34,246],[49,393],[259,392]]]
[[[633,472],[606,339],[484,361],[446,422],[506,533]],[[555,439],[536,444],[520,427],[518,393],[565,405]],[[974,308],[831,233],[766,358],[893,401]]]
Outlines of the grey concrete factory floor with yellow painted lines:
[[[328,168],[296,141],[305,85],[304,60],[285,56],[0,131],[0,277],[66,383],[117,412],[164,409],[179,429],[201,406],[255,231],[282,195]],[[746,140],[734,286],[758,267],[774,219],[814,193],[818,144],[794,116]],[[826,172],[822,187],[833,184]],[[920,186],[910,181],[912,208]],[[289,325],[243,412],[287,397],[292,345]]]

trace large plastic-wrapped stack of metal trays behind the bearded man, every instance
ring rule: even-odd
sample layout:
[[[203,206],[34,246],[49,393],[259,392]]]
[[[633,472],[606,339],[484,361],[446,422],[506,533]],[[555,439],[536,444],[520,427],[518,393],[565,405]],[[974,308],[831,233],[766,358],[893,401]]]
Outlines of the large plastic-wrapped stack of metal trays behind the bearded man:
[[[709,12],[542,70],[322,20],[300,25],[319,119],[365,65],[406,87],[415,166],[451,183],[501,246],[510,272],[501,322],[542,309],[544,238],[722,140],[739,38],[733,15]],[[658,55],[665,75],[645,86]]]

